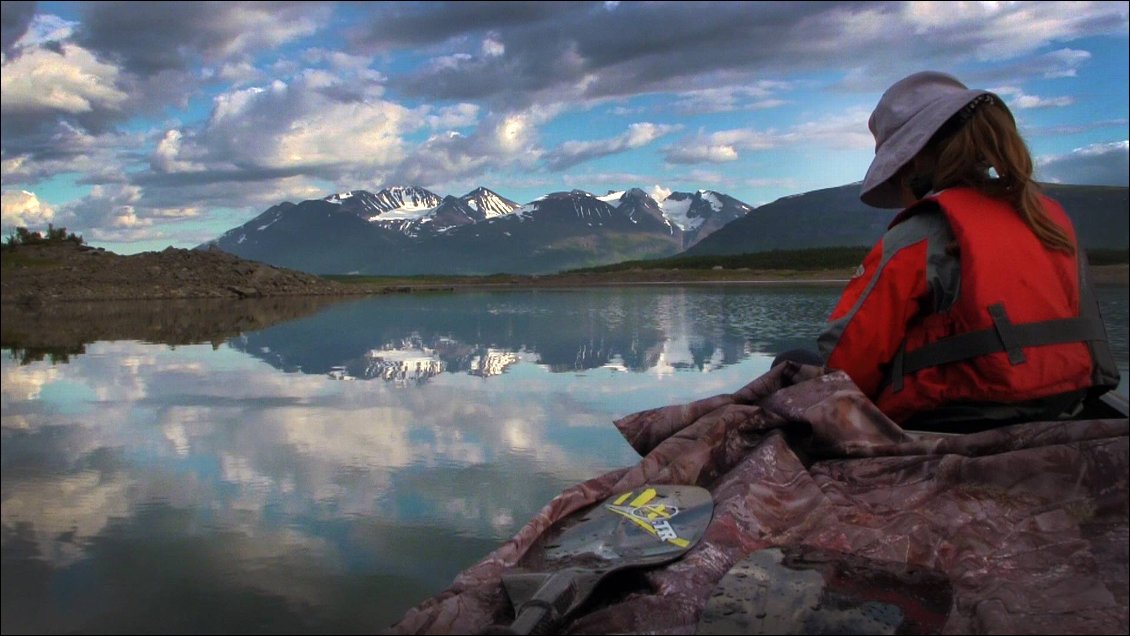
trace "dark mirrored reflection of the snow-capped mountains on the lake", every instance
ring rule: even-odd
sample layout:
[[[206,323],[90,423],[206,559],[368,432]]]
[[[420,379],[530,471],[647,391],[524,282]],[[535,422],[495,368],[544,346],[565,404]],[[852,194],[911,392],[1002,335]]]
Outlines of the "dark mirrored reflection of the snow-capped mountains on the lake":
[[[812,348],[837,294],[720,287],[380,297],[233,346],[286,371],[402,384],[443,373],[488,377],[520,359],[553,372],[710,371],[756,352]]]

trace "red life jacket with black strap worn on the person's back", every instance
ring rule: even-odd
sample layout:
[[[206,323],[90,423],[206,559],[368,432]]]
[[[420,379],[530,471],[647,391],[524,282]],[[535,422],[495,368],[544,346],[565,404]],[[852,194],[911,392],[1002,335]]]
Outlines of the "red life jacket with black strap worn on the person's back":
[[[909,326],[879,408],[902,421],[947,403],[1015,403],[1095,385],[1088,341],[1105,340],[1105,329],[1093,303],[1080,315],[1076,256],[1046,249],[1008,203],[973,189],[935,200],[960,250],[960,289],[948,311]],[[1075,244],[1062,208],[1043,204]]]

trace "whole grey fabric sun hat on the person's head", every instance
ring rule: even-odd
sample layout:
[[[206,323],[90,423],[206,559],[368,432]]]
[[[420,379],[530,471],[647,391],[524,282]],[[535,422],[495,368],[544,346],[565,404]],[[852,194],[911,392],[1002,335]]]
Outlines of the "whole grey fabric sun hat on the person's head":
[[[949,117],[988,90],[972,89],[937,71],[905,77],[887,89],[867,125],[875,136],[875,159],[867,168],[859,198],[876,208],[902,208],[898,186],[890,182]]]

